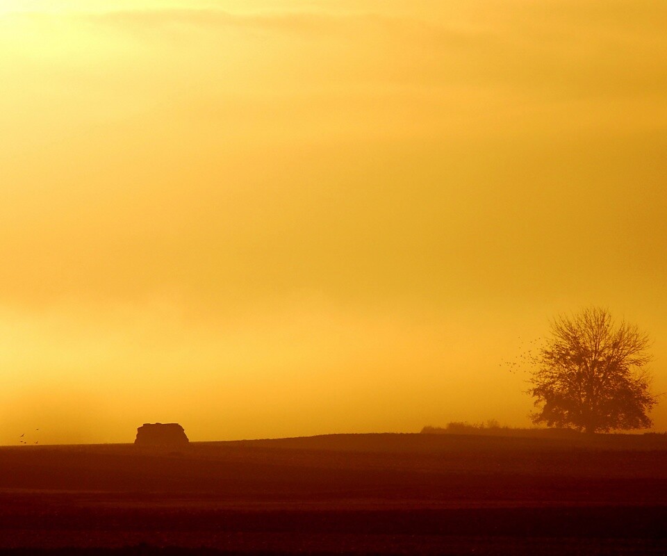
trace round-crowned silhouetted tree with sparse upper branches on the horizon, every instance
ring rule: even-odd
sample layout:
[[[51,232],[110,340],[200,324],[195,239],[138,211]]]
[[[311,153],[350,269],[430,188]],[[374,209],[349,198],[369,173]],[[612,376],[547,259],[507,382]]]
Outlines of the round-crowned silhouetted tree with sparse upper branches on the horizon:
[[[589,433],[652,425],[647,334],[598,307],[557,317],[550,332],[529,381],[534,423]]]

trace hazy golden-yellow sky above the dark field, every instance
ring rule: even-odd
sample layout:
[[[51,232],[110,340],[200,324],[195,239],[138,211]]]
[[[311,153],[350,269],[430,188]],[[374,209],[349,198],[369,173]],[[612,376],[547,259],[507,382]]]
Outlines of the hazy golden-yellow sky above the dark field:
[[[589,304],[667,391],[665,21],[3,0],[0,443],[526,426],[502,361]]]

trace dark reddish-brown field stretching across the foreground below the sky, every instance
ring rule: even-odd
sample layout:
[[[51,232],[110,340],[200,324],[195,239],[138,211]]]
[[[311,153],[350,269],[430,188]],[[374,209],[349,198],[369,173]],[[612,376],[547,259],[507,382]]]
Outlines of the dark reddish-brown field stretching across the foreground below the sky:
[[[667,555],[667,439],[0,448],[15,555]]]

